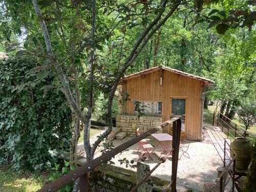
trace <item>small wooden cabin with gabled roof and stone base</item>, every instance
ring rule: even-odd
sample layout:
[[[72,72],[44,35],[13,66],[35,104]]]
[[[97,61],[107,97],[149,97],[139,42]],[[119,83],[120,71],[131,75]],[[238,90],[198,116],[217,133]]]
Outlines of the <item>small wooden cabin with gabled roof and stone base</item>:
[[[137,128],[146,132],[172,118],[182,120],[182,137],[202,139],[204,90],[214,81],[168,67],[154,67],[122,78],[120,97],[129,99],[119,104],[116,126],[127,135],[136,135]],[[138,119],[138,112],[144,115]],[[172,127],[161,133],[172,135]]]

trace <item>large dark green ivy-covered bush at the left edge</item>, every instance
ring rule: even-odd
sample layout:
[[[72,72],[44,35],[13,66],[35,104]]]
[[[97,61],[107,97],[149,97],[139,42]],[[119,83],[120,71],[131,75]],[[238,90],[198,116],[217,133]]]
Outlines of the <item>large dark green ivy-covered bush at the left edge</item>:
[[[52,79],[32,72],[36,66],[29,57],[0,60],[0,163],[12,161],[16,169],[44,168],[71,137],[65,97],[41,89]]]

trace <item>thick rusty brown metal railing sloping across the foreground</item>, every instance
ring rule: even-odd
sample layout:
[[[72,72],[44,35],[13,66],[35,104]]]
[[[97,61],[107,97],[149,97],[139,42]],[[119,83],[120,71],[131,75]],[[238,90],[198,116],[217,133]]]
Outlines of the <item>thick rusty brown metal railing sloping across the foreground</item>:
[[[80,185],[80,192],[87,192],[89,191],[89,172],[93,170],[95,167],[99,166],[105,161],[110,160],[115,155],[121,153],[122,151],[126,150],[130,146],[134,145],[135,143],[139,142],[140,140],[150,136],[151,134],[163,129],[163,127],[173,124],[173,144],[172,144],[172,150],[169,152],[172,153],[172,180],[168,184],[168,186],[165,188],[167,190],[169,187],[171,187],[171,191],[176,191],[176,179],[177,179],[177,168],[178,168],[178,158],[179,158],[179,147],[180,147],[180,137],[181,137],[181,119],[180,118],[172,118],[168,121],[163,122],[157,127],[153,127],[150,131],[147,131],[129,141],[126,141],[125,143],[115,147],[113,150],[106,152],[105,154],[89,161],[88,163],[77,167],[76,170],[68,173],[67,175],[64,175],[60,177],[59,179],[53,181],[52,183],[49,183],[39,189],[38,191],[57,191],[58,189],[61,189],[62,187],[70,184],[71,182],[75,181],[77,178],[79,178],[79,185]],[[167,154],[167,155],[169,155]],[[166,155],[166,156],[167,156]],[[163,162],[166,160],[166,156],[161,158],[159,163],[147,174],[145,175],[140,181],[138,181],[137,185],[132,189],[132,191],[136,191],[136,189],[144,183],[144,181],[154,172],[154,170]]]

